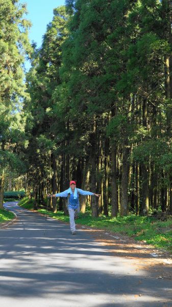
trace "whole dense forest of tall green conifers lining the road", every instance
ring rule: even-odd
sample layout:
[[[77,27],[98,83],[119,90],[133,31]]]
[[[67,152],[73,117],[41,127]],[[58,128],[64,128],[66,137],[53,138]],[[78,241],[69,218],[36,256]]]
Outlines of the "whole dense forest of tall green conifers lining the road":
[[[25,12],[0,0],[0,206],[72,179],[102,195],[92,216],[172,214],[172,2],[66,0],[39,49]]]

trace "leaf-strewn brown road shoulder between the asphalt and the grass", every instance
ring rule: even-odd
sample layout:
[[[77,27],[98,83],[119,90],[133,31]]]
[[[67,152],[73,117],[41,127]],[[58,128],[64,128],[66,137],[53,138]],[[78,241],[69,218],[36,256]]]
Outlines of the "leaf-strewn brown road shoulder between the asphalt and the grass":
[[[172,255],[165,250],[156,249],[145,242],[106,230],[93,229],[77,225],[79,229],[89,231],[94,239],[103,246],[109,246],[113,256],[132,259],[136,271],[146,270],[148,276],[157,279],[172,280]]]

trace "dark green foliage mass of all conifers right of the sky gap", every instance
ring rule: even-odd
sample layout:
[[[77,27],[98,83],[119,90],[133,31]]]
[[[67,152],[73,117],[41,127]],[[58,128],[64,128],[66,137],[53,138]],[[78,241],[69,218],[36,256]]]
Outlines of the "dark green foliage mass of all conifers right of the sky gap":
[[[100,168],[99,158],[104,166],[100,156],[106,156],[105,140],[110,138],[117,144],[118,169],[111,169],[111,159],[109,167],[112,176],[117,173],[119,194],[121,184],[124,188],[121,161],[126,163],[126,170],[130,166],[133,171],[133,186],[129,188],[133,193],[135,162],[140,169],[147,164],[151,171],[145,181],[150,191],[158,190],[157,198],[149,195],[150,201],[158,199],[161,205],[166,196],[161,195],[159,186],[164,181],[170,189],[172,165],[170,4],[158,0],[67,0],[66,5],[67,12],[65,7],[54,10],[42,46],[33,52],[24,105],[27,139],[24,141],[17,125],[12,126],[12,119],[8,123],[8,115],[15,108],[4,105],[2,141],[10,138],[15,143],[19,139],[15,151],[24,144],[27,175],[38,189],[53,177],[50,166],[54,156],[58,172],[61,165],[65,168],[66,159],[68,173],[76,174],[77,163],[88,161],[90,152],[93,156],[99,152],[96,168]],[[6,41],[0,46],[7,54]],[[112,148],[108,149],[113,155]],[[69,170],[67,163],[71,161]],[[101,169],[102,176],[97,176],[97,169],[94,173],[99,186],[105,173]],[[64,183],[63,176],[64,170],[60,180]],[[138,177],[141,189],[143,181],[140,174]],[[111,192],[112,181],[109,183]],[[144,200],[144,188],[139,194],[140,201]]]

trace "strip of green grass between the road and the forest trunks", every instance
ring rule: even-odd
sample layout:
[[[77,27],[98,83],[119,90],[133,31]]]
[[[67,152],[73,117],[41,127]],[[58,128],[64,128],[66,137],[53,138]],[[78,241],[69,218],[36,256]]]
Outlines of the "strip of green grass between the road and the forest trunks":
[[[33,200],[25,198],[19,202],[19,205],[33,209]],[[53,213],[46,209],[39,209],[38,212],[69,223],[69,217],[62,211]],[[167,221],[156,220],[154,216],[136,215],[113,218],[103,215],[95,218],[87,211],[85,214],[79,214],[77,224],[132,236],[136,240],[144,240],[157,248],[164,248],[172,252],[172,217],[169,217]]]

